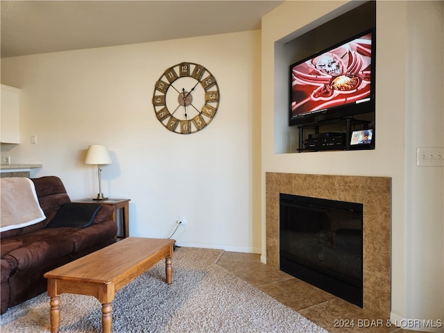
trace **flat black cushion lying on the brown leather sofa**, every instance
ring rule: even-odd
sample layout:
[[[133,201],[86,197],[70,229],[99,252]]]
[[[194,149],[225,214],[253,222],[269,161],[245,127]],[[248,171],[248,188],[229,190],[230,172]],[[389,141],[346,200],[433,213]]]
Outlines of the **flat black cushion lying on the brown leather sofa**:
[[[46,228],[86,228],[92,224],[101,207],[99,204],[65,203]]]

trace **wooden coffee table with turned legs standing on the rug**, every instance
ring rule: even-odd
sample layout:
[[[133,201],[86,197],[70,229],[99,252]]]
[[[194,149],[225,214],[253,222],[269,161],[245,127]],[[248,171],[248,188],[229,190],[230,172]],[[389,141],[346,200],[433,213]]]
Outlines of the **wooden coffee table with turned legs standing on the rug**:
[[[128,237],[44,274],[51,297],[51,332],[60,329],[60,294],[96,297],[102,303],[102,332],[112,327],[112,300],[125,284],[165,259],[167,283],[171,284],[174,239]]]

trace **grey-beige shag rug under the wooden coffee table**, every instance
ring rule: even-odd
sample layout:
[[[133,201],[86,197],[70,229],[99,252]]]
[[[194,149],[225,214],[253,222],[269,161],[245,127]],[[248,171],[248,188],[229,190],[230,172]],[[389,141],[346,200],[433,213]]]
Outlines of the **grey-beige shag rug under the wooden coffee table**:
[[[173,283],[164,260],[120,289],[112,302],[112,332],[328,333],[216,262],[223,250],[177,248]],[[101,304],[92,296],[60,296],[60,332],[101,332]],[[51,332],[42,293],[0,317],[0,331]]]

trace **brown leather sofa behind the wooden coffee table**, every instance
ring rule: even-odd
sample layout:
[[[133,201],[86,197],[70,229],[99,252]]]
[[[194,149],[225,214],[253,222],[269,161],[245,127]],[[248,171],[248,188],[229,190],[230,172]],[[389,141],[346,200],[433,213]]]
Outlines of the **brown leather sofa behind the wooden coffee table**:
[[[0,234],[1,314],[46,291],[47,271],[117,240],[112,206],[71,203],[56,176],[31,180],[46,219]]]

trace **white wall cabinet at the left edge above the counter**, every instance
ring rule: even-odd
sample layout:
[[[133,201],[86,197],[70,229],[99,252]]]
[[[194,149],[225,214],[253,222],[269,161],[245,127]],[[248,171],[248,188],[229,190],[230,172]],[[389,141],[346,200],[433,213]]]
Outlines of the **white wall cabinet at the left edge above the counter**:
[[[20,89],[1,85],[0,109],[0,142],[4,144],[19,144],[19,99]]]

